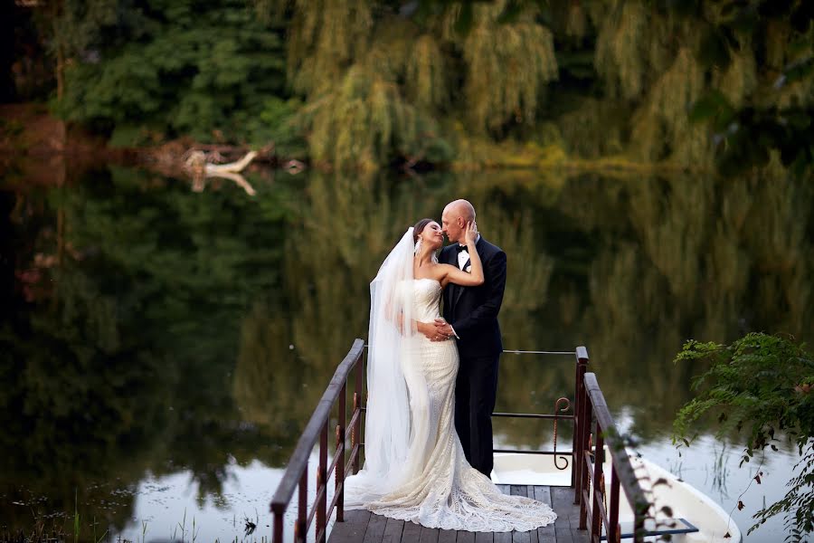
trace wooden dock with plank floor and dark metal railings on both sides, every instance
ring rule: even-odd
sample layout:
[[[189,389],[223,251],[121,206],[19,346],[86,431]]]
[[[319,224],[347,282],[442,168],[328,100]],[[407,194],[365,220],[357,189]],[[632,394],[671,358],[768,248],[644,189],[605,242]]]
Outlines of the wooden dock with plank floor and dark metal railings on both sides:
[[[588,372],[588,351],[578,347],[575,351],[505,351],[515,354],[575,355],[575,379],[573,401],[568,397],[559,398],[554,405],[554,414],[495,413],[492,416],[515,418],[536,418],[554,421],[554,451],[515,451],[495,449],[494,452],[556,454],[565,456],[573,469],[573,487],[549,487],[537,485],[498,485],[501,491],[516,496],[526,496],[544,501],[557,513],[553,526],[528,532],[475,533],[441,529],[425,529],[412,522],[387,519],[368,511],[344,511],[345,474],[358,472],[361,467],[361,437],[364,408],[364,341],[355,339],[345,358],[336,367],[325,394],[317,404],[308,425],[299,437],[297,447],[271,499],[270,510],[274,516],[271,540],[284,543],[286,511],[289,509],[294,492],[298,492],[297,519],[294,522],[295,543],[312,541],[309,538],[314,526],[316,543],[582,543],[589,541],[589,530],[579,529],[580,515],[588,520],[592,531],[599,540],[601,530],[611,541],[618,540],[621,533],[619,523],[620,491],[624,491],[630,503],[638,504],[633,511],[629,536],[633,543],[641,543],[647,535],[645,519],[652,519],[653,503],[642,491],[639,478],[633,470],[625,444],[618,437],[605,402],[605,396],[596,376]],[[352,376],[352,373],[355,374]],[[349,395],[348,383],[355,382],[353,395]],[[348,419],[347,400],[353,398],[353,410]],[[336,406],[336,414],[334,407]],[[566,413],[568,412],[568,413]],[[333,417],[336,416],[336,447],[332,458],[328,458],[328,434],[331,432]],[[573,422],[572,451],[556,451],[557,422]],[[350,443],[348,443],[350,438]],[[317,467],[317,491],[313,504],[308,503],[308,462],[311,453],[319,443]],[[605,454],[605,444],[611,452],[610,489],[605,491],[603,462],[593,462]],[[336,491],[328,500],[328,486]],[[574,493],[581,501],[573,504]],[[648,508],[639,507],[647,505]],[[582,509],[581,509],[582,508]],[[343,513],[344,511],[344,513]],[[344,522],[330,524],[330,519],[344,514]],[[649,516],[648,516],[649,515]],[[329,541],[327,534],[330,532]]]

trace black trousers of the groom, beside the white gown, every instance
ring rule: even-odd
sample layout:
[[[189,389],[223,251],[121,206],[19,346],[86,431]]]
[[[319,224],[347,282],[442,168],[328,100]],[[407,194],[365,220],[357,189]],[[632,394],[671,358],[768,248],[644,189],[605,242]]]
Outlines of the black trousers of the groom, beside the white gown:
[[[500,355],[460,359],[455,381],[455,429],[469,464],[487,477],[495,464],[492,412]]]

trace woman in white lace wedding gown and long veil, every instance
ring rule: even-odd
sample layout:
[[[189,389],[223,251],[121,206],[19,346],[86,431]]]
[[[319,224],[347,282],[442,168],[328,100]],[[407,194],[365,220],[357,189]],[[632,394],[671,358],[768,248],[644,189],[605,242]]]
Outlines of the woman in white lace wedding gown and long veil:
[[[477,225],[467,224],[469,272],[440,264],[440,224],[422,219],[370,285],[365,461],[345,480],[345,509],[428,528],[488,532],[526,531],[556,519],[548,505],[503,494],[469,465],[455,432],[458,348],[449,338],[424,335],[432,336],[448,283],[483,283],[477,238]]]

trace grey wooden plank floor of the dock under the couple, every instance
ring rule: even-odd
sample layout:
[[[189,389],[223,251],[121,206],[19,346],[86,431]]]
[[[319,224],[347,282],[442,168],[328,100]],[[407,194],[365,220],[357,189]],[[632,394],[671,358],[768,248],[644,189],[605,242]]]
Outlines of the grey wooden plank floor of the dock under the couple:
[[[582,543],[588,530],[579,529],[580,509],[569,487],[497,485],[506,494],[528,496],[551,505],[553,525],[528,532],[468,532],[422,528],[412,522],[387,519],[370,511],[345,511],[335,522],[328,543]]]

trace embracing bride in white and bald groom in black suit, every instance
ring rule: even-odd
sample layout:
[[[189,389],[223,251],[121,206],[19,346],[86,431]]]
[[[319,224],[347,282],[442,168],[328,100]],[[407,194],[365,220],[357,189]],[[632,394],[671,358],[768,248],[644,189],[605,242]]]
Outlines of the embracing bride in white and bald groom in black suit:
[[[505,286],[506,253],[466,200],[408,228],[384,259],[370,285],[364,467],[345,480],[345,509],[467,531],[554,522],[547,504],[489,479]]]

